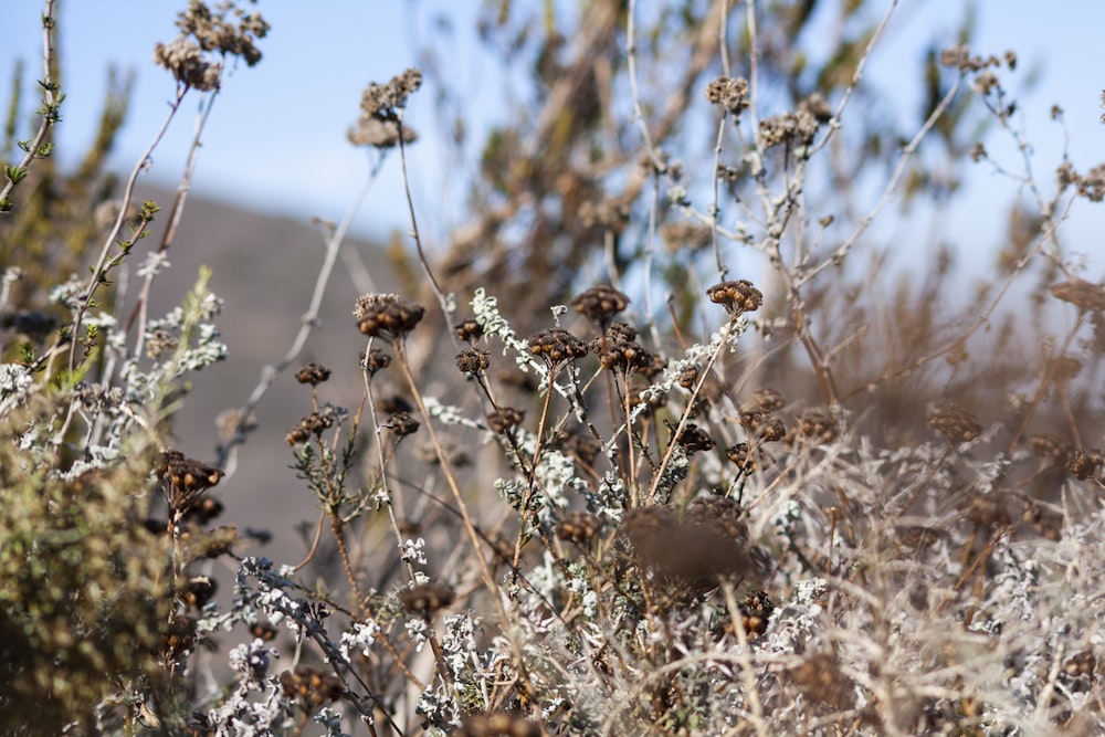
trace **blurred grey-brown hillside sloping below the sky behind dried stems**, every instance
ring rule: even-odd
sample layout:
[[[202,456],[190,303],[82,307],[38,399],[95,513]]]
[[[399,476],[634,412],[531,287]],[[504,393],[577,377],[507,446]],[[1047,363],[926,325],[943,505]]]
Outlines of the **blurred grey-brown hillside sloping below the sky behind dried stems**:
[[[140,199],[162,207],[154,234],[136,251],[156,248],[169,218],[175,192],[139,188]],[[183,217],[169,249],[169,269],[154,283],[150,315],[159,317],[181,304],[196,283],[201,265],[212,271],[210,288],[223,299],[217,326],[229,346],[225,361],[189,377],[190,393],[173,420],[175,446],[199,461],[214,459],[219,413],[241,407],[261,379],[262,371],[281,360],[295,339],[325,253],[322,228],[278,218],[190,193]],[[358,254],[375,289],[396,289],[383,250],[372,243],[347,239],[343,248]],[[312,531],[318,507],[306,485],[290,467],[292,449],[287,431],[308,414],[311,388],[295,381],[295,368],[314,360],[333,371],[318,388],[322,401],[356,410],[364,391],[357,367],[365,339],[352,319],[358,296],[349,270],[338,259],[325,292],[315,327],[296,364],[275,382],[255,411],[257,429],[239,449],[238,464],[212,494],[227,510],[218,524],[239,529],[271,530],[274,546],[257,550],[280,562],[297,562],[306,549],[298,533],[303,520]],[[295,558],[295,560],[292,560]]]

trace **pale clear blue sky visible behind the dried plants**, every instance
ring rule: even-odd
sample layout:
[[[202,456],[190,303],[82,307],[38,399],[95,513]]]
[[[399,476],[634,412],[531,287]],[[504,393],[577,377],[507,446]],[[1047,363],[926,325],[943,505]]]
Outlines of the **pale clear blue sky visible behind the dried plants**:
[[[41,72],[42,3],[7,0],[4,4],[0,99],[7,101],[17,57],[28,64],[25,82],[33,82]],[[106,90],[106,70],[114,63],[137,75],[130,117],[114,155],[119,169],[134,166],[166,114],[173,90],[168,73],[150,61],[152,46],[158,40],[175,36],[172,23],[185,6],[185,0],[62,2],[67,97],[57,140],[63,161],[72,160],[91,140]],[[418,48],[431,33],[431,18],[442,11],[455,19],[455,48],[439,48],[450,84],[462,96],[476,101],[472,109],[487,110],[488,119],[503,109],[497,91],[504,73],[481,56],[472,40],[472,19],[480,0],[262,1],[256,7],[272,24],[270,36],[260,43],[264,59],[254,69],[243,65],[224,82],[203,140],[194,180],[199,192],[304,220],[313,215],[340,219],[369,168],[367,154],[345,139],[346,128],[358,114],[360,92],[369,81],[387,81],[414,65]],[[914,109],[917,103],[912,85],[917,78],[922,44],[934,31],[950,39],[966,7],[959,0],[903,0],[880,56],[869,67],[873,80],[887,94],[902,95],[902,104]],[[1036,144],[1036,170],[1046,172],[1041,178],[1051,180],[1061,150],[1060,136],[1048,116],[1052,103],[1066,110],[1077,168],[1085,171],[1096,164],[1105,152],[1105,127],[1098,123],[1105,73],[1095,74],[1105,70],[1105,44],[1099,41],[1105,2],[980,0],[977,9],[975,49],[998,54],[1015,49],[1025,76],[1028,70],[1040,72],[1035,92],[1021,98],[1020,109],[1028,135]],[[880,59],[887,61],[877,63]],[[895,76],[903,72],[907,77]],[[1018,78],[1012,77],[1014,93]],[[197,99],[186,101],[182,115],[155,152],[151,178],[177,181],[192,135]],[[429,99],[421,105],[415,101],[409,115],[423,133],[432,129]],[[988,148],[1011,152],[999,143]],[[441,201],[448,185],[440,181],[441,167],[434,166],[440,156],[441,148],[432,136],[424,136],[412,149],[414,193],[423,203],[422,210]],[[357,220],[357,231],[379,235],[407,228],[397,175],[398,160],[389,161]],[[989,175],[980,171],[978,176]],[[972,198],[981,199],[971,199],[960,208],[965,212],[956,215],[965,219],[966,228],[978,227],[971,212],[988,204],[986,192],[991,188],[983,182],[980,189],[982,193]],[[1008,199],[1010,188],[1002,185],[999,189]],[[448,230],[448,218],[427,218],[431,236],[434,231],[440,236]],[[1092,232],[1101,230],[1094,225]],[[1087,242],[1080,250],[1098,248],[1096,242]]]

